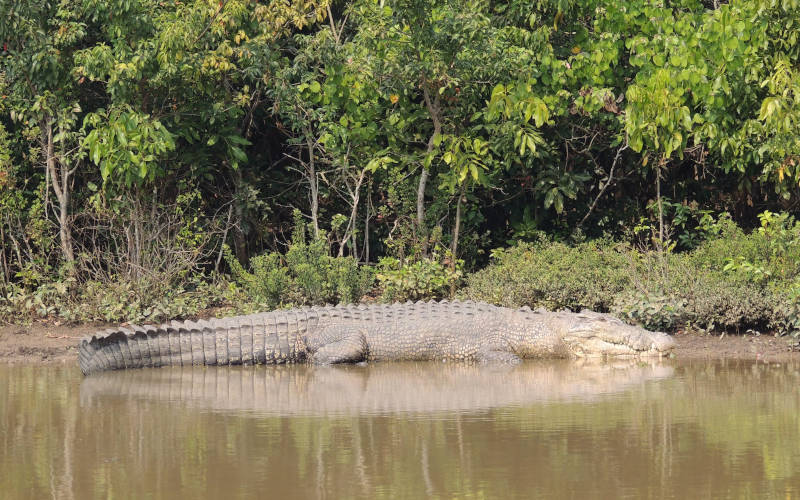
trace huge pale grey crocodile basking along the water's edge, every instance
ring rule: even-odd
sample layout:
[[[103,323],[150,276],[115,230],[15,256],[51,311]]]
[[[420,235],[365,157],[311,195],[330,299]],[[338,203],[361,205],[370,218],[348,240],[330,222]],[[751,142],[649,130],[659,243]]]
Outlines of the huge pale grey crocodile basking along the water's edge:
[[[85,336],[81,371],[362,361],[517,363],[525,358],[663,356],[666,334],[603,313],[472,301],[302,307]]]

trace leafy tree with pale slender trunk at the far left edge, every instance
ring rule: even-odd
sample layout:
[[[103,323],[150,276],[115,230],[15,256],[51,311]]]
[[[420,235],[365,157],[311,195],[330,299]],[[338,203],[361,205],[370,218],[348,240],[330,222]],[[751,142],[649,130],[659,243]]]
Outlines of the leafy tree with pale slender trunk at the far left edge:
[[[72,78],[73,54],[86,25],[73,2],[3,2],[0,39],[5,52],[9,116],[23,136],[36,137],[48,189],[57,202],[61,254],[75,260],[70,220],[74,176],[81,166],[78,114],[81,90]]]

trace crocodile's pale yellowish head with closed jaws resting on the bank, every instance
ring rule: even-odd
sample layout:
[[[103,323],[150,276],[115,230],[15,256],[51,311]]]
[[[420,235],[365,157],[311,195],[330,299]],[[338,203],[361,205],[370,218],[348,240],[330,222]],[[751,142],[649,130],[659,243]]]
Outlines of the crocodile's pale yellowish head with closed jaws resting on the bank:
[[[608,314],[584,310],[557,318],[564,347],[575,357],[666,356],[675,346],[666,333],[631,326]]]

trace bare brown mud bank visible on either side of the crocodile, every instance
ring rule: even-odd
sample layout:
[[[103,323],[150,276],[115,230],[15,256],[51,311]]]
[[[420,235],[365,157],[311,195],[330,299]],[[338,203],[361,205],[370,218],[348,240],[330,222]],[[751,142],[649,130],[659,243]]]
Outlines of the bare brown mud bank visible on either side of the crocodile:
[[[34,323],[0,326],[0,363],[77,363],[78,340],[104,325],[65,326]],[[800,361],[797,341],[771,335],[701,335],[679,333],[675,356],[680,359],[741,359],[768,363]]]

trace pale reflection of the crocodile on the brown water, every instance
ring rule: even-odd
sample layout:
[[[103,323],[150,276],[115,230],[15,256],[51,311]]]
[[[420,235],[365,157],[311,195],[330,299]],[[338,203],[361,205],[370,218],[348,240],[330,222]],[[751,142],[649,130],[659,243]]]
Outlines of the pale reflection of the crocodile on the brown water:
[[[265,415],[475,412],[592,401],[672,374],[671,366],[657,361],[176,367],[98,374],[83,380],[80,397],[83,407],[122,398]]]

